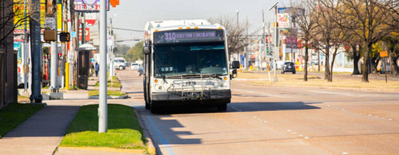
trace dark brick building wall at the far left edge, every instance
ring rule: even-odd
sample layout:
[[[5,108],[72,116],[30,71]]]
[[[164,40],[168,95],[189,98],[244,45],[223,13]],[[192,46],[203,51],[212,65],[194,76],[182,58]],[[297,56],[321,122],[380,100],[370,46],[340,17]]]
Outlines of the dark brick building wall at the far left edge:
[[[13,0],[0,0],[0,108],[17,102],[18,96],[13,4]]]

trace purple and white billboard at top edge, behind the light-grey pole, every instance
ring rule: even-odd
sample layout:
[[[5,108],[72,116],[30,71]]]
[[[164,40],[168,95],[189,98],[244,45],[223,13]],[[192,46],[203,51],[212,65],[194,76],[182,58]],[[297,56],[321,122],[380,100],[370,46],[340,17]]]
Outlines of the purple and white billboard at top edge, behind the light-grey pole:
[[[100,0],[73,0],[73,9],[77,12],[100,12]],[[107,0],[109,10],[109,0]]]

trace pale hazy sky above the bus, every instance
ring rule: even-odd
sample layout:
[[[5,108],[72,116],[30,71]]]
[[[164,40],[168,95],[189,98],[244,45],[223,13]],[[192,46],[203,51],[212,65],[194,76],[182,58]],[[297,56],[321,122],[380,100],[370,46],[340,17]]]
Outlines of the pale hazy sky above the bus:
[[[288,6],[289,0],[278,0],[279,7]],[[152,20],[209,19],[221,15],[237,17],[248,22],[251,30],[262,29],[262,9],[265,21],[274,21],[274,11],[269,8],[276,0],[119,0],[119,6],[110,8],[107,16],[113,16],[113,27],[144,31],[144,25]],[[142,38],[143,32],[114,30],[116,39]],[[119,44],[133,46],[136,41]]]

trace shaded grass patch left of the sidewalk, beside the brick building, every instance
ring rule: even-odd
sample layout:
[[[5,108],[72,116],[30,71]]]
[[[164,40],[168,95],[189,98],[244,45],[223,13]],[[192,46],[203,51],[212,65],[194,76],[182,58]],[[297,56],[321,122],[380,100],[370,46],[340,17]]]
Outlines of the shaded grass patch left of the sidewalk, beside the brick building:
[[[0,110],[0,138],[16,128],[30,116],[43,108],[43,105],[10,103]]]

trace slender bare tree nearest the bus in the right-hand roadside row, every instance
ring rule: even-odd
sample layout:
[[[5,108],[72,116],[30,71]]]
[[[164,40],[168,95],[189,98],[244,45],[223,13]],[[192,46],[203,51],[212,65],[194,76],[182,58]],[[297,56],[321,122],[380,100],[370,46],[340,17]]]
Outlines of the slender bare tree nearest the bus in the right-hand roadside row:
[[[316,10],[314,9],[313,0],[300,0],[291,2],[292,18],[298,27],[298,37],[304,41],[305,47],[305,64],[304,64],[304,81],[308,81],[308,50],[310,41],[313,39],[314,30],[316,29]]]

